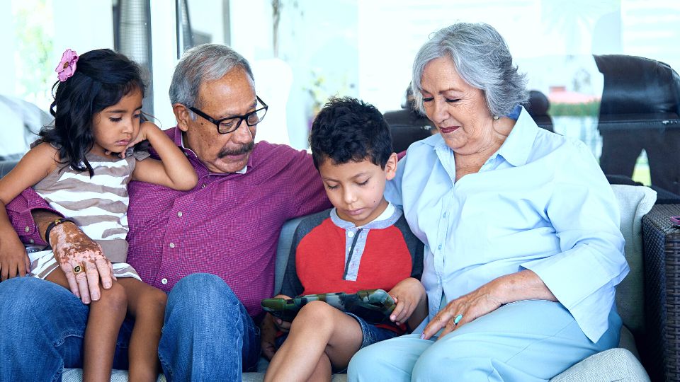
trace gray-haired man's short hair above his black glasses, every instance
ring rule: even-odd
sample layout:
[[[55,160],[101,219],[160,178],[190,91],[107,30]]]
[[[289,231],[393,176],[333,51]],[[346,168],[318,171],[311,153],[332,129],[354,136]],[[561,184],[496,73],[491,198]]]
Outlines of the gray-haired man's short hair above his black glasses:
[[[224,77],[235,67],[241,67],[253,79],[250,64],[231,47],[220,44],[203,44],[184,52],[172,75],[170,102],[200,108],[198,89],[204,81]],[[193,114],[193,113],[191,113]],[[192,115],[192,118],[195,116]]]

